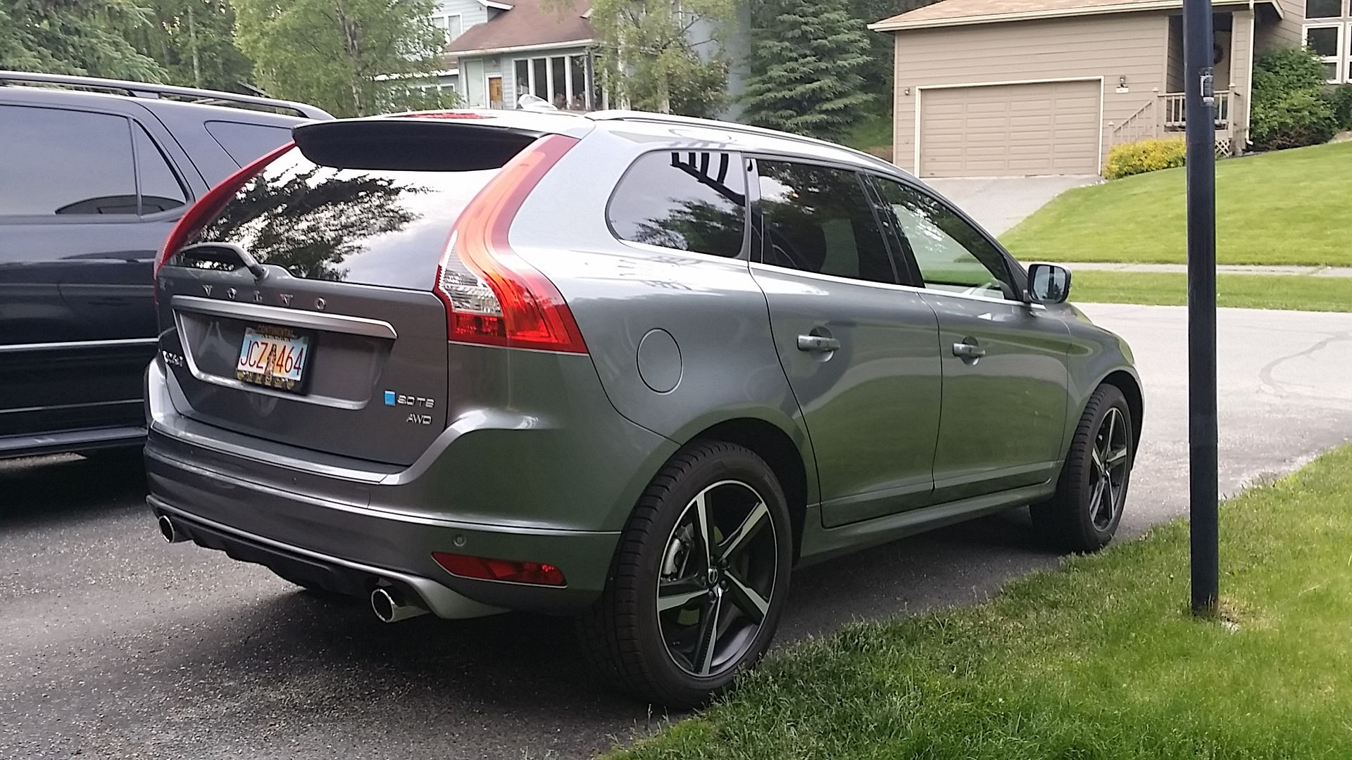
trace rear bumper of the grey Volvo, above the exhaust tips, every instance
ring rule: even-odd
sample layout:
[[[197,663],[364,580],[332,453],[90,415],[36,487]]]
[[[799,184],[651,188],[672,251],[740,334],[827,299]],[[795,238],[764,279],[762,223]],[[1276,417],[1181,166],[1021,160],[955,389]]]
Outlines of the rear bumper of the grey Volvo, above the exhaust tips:
[[[147,499],[155,515],[185,526],[199,545],[260,563],[346,594],[380,581],[412,588],[443,618],[503,610],[576,614],[600,595],[618,533],[539,530],[429,519],[334,502],[200,467],[166,453],[151,433],[146,446]],[[212,458],[208,449],[195,457]],[[266,480],[272,480],[270,477]],[[433,552],[530,560],[558,567],[566,587],[457,577]]]

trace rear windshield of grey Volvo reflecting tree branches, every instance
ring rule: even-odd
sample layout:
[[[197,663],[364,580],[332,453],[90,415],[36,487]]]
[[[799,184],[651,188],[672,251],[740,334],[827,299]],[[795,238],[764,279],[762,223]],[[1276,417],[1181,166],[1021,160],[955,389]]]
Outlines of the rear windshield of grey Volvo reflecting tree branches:
[[[334,169],[292,149],[188,243],[235,243],[295,277],[431,288],[456,218],[498,169]]]

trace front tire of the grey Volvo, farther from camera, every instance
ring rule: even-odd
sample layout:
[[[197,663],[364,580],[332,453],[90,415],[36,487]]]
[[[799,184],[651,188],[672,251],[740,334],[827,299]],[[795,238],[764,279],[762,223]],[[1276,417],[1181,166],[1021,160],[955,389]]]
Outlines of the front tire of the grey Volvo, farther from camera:
[[[1119,423],[1124,430],[1115,426],[1107,430],[1106,423],[1110,422]],[[1111,454],[1121,457],[1119,465],[1117,461],[1107,465],[1107,487],[1103,484],[1105,471],[1096,464],[1098,458],[1103,458],[1105,434],[1113,438],[1109,442]],[[1069,552],[1102,549],[1113,540],[1122,521],[1134,457],[1136,430],[1132,427],[1126,396],[1115,385],[1099,385],[1084,404],[1084,412],[1075,427],[1056,495],[1030,507],[1034,527],[1059,549]],[[1103,488],[1106,491],[1102,491]],[[1111,499],[1113,503],[1106,504],[1103,498]],[[1110,507],[1110,514],[1105,513],[1105,507]]]

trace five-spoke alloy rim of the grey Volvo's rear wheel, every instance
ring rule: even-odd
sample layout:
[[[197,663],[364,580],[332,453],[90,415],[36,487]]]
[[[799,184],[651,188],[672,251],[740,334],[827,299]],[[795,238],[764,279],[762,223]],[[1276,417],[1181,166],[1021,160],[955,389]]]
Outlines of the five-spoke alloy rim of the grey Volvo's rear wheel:
[[[676,521],[657,577],[667,653],[699,678],[735,667],[775,594],[779,542],[765,499],[740,480],[700,491]]]

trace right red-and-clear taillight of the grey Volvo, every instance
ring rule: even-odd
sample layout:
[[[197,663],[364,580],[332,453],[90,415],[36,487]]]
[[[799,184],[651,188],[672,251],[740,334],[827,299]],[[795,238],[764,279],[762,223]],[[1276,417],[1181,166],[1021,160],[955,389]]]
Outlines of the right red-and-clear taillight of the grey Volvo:
[[[587,353],[558,288],[511,249],[512,218],[541,177],[577,141],[546,135],[512,157],[469,201],[437,266],[448,339]]]

